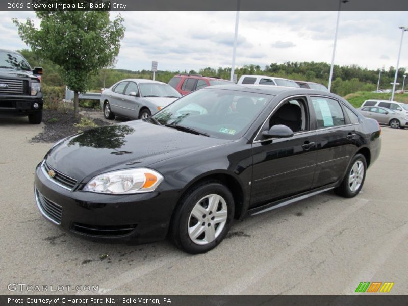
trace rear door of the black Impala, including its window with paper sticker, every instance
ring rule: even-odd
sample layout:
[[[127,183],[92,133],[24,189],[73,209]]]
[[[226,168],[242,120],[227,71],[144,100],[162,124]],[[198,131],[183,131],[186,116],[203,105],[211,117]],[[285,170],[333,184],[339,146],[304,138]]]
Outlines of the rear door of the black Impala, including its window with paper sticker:
[[[310,96],[311,118],[316,124],[316,172],[312,188],[342,179],[356,149],[358,133],[344,115],[340,101],[326,96]]]

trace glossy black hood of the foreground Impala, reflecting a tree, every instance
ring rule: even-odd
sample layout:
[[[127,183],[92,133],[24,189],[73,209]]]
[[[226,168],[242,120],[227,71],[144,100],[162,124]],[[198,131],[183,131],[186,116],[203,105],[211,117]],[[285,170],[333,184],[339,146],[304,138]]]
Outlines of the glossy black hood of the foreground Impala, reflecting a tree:
[[[227,142],[231,140],[195,135],[135,120],[73,135],[50,149],[45,160],[51,167],[78,182],[86,182],[100,173],[148,167]]]

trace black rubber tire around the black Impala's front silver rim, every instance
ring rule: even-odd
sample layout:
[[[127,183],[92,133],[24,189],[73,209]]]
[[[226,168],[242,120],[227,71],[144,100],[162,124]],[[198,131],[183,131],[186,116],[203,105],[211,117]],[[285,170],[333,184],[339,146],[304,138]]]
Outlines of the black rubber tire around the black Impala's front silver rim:
[[[195,243],[191,238],[188,229],[193,228],[194,226],[191,226],[191,222],[193,221],[194,216],[192,215],[193,208],[196,207],[196,205],[200,205],[199,203],[205,203],[205,201],[200,202],[200,199],[203,199],[207,196],[211,197],[212,195],[218,195],[220,196],[220,200],[217,203],[217,208],[216,211],[221,210],[223,208],[227,208],[226,212],[226,220],[225,223],[222,225],[222,223],[219,223],[218,226],[223,226],[220,228],[219,233],[217,234],[217,224],[214,225],[215,228],[215,239],[212,240],[211,242],[207,243],[204,238],[201,238],[200,241],[206,244],[197,244]],[[221,199],[223,200],[221,202]],[[209,201],[207,202],[207,208],[204,208],[201,206],[204,210],[208,210],[208,215],[203,215],[203,224],[202,225],[199,221],[197,220],[196,225],[203,226],[202,227],[202,235],[205,235],[207,237],[207,230],[206,228],[210,230],[210,223],[206,222],[212,222],[210,220],[214,220],[214,217],[217,215],[216,213],[210,213],[210,207],[209,207]],[[205,253],[208,252],[209,250],[215,248],[226,236],[228,231],[231,228],[232,221],[234,218],[234,198],[231,194],[231,191],[226,188],[224,185],[222,185],[219,182],[203,182],[199,185],[193,186],[181,199],[179,202],[179,205],[177,206],[173,218],[171,220],[171,225],[170,225],[170,231],[169,231],[169,237],[170,240],[174,243],[174,245],[181,250],[184,250],[190,254],[200,254],[200,253]],[[224,211],[225,213],[225,211]],[[207,219],[204,219],[204,216],[207,217]],[[211,219],[212,218],[212,219]],[[214,221],[216,223],[216,221]],[[193,224],[194,225],[194,224]],[[212,225],[211,225],[212,226]],[[201,237],[202,235],[198,236]]]

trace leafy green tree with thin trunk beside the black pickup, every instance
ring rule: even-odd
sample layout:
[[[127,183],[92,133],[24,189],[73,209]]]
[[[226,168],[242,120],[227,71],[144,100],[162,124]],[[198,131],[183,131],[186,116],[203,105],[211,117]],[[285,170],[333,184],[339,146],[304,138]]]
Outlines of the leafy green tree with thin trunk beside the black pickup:
[[[25,44],[42,58],[59,65],[66,85],[74,91],[74,112],[78,116],[78,95],[85,92],[89,77],[113,63],[124,36],[123,18],[109,20],[106,11],[36,11],[40,29],[27,19],[13,19]]]

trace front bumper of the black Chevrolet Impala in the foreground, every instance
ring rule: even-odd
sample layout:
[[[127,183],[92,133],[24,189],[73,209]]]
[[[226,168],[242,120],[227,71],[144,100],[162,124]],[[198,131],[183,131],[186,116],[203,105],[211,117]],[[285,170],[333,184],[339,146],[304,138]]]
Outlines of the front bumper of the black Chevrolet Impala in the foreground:
[[[110,195],[71,191],[36,168],[41,214],[63,230],[98,241],[146,243],[164,239],[177,201],[173,191]]]

